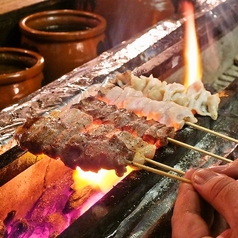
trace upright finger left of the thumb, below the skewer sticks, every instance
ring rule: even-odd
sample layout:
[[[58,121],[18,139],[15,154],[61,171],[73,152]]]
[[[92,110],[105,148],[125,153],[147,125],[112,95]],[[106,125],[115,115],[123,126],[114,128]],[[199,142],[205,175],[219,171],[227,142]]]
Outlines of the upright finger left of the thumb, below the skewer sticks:
[[[186,173],[190,179],[193,171]],[[172,216],[172,237],[203,237],[209,235],[209,228],[201,217],[201,199],[193,186],[181,183]],[[186,221],[186,222],[185,222]]]

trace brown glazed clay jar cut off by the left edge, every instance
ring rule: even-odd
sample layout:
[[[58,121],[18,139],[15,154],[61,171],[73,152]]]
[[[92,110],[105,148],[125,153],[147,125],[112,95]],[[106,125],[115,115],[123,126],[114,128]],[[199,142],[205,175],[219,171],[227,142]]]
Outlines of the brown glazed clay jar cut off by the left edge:
[[[40,88],[43,67],[36,52],[0,47],[0,110]]]

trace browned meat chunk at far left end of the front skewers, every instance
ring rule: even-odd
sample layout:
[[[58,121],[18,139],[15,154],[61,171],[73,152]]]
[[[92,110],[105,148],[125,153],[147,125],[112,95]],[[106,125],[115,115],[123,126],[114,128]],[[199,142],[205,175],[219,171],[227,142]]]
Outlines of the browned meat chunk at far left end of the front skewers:
[[[33,154],[46,153],[55,157],[52,145],[58,135],[68,128],[80,132],[92,122],[91,116],[77,109],[53,111],[44,117],[28,119],[17,129],[15,138],[21,142],[21,148],[28,149]]]

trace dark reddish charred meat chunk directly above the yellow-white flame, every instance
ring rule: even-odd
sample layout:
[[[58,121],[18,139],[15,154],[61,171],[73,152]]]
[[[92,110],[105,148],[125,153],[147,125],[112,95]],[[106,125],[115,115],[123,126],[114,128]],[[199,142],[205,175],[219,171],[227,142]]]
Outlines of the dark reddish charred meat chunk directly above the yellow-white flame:
[[[118,176],[122,176],[126,172],[127,160],[133,160],[134,154],[116,135],[108,138],[85,133],[72,136],[58,157],[73,169],[76,166],[93,172],[101,168],[114,169]]]

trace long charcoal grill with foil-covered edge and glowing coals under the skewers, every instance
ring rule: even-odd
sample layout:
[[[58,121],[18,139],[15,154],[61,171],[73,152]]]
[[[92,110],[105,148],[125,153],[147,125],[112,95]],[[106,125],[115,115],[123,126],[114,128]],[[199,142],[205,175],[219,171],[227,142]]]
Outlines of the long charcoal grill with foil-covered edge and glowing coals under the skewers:
[[[204,67],[203,81],[212,91],[224,90],[227,95],[221,98],[218,120],[198,117],[198,123],[231,137],[236,137],[238,132],[237,22],[236,0],[203,2],[197,6],[197,32],[204,66],[213,60],[209,58],[211,52],[219,49],[219,65]],[[183,19],[159,22],[29,95],[19,104],[3,110],[0,114],[2,147],[7,148],[15,128],[26,116],[43,114],[72,103],[88,86],[125,70],[132,70],[136,75],[152,73],[168,82],[182,81]],[[234,143],[191,127],[179,131],[176,139],[230,159],[237,158]],[[11,224],[18,237],[23,237],[30,229],[39,229],[41,234],[50,230],[51,237],[171,237],[170,219],[177,181],[142,170],[133,171],[82,216],[78,218],[75,214],[72,224],[65,225],[62,203],[70,192],[72,171],[60,161],[29,155],[14,145],[6,150],[0,158],[0,189],[1,199],[9,202],[0,209],[0,220],[5,219],[5,224]],[[184,171],[191,166],[220,163],[217,159],[172,144],[159,149],[155,160]],[[37,219],[42,220],[37,214],[50,211],[47,206],[45,210],[42,208],[46,203],[50,208],[62,209],[52,213],[48,223],[35,223]],[[27,220],[30,215],[35,218],[34,222]],[[60,234],[55,232],[58,227],[64,228]]]

